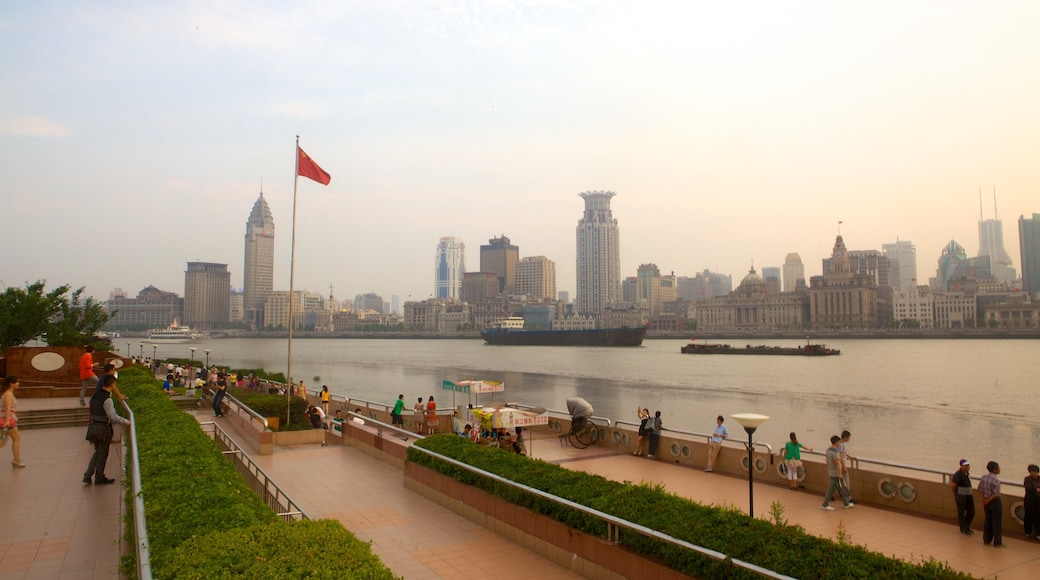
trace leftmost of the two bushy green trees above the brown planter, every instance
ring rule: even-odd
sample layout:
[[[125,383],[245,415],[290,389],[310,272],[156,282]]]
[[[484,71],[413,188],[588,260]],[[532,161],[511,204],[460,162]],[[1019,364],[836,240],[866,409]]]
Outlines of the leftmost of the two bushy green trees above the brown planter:
[[[51,318],[61,312],[69,286],[44,293],[47,281],[7,288],[0,294],[0,352],[38,339],[48,332]],[[82,343],[80,343],[82,344]]]

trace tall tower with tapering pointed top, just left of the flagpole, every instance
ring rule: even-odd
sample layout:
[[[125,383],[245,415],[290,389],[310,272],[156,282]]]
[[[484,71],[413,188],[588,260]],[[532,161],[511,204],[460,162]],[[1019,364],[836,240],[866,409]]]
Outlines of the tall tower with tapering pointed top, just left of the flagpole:
[[[245,264],[242,268],[242,315],[263,327],[263,305],[275,289],[275,218],[263,199],[253,204],[245,220]]]

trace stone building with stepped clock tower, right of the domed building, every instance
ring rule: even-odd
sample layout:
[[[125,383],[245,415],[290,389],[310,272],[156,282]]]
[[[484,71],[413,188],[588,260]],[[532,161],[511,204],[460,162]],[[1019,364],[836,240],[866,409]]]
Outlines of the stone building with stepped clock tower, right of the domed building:
[[[875,278],[854,273],[844,240],[837,236],[824,275],[809,281],[809,322],[814,328],[863,328],[878,325]]]

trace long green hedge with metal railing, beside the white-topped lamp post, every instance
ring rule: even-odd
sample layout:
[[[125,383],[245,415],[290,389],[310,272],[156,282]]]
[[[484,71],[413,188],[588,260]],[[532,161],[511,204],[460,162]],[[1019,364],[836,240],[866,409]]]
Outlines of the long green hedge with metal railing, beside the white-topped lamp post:
[[[473,445],[450,434],[427,437],[416,446],[505,477],[575,503],[641,524],[661,533],[709,548],[732,558],[795,578],[970,578],[934,560],[917,564],[889,558],[865,548],[834,543],[806,533],[800,526],[774,525],[734,509],[709,507],[665,491],[660,485],[617,482],[572,471],[516,453]],[[540,499],[522,491],[409,449],[408,459],[458,481],[480,487],[600,537],[605,524],[580,511]],[[690,550],[622,530],[621,545],[697,578],[755,578]]]

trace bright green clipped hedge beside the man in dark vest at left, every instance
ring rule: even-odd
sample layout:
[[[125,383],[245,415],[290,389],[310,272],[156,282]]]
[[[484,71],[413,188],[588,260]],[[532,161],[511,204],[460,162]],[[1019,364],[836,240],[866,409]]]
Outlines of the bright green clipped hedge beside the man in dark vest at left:
[[[137,420],[155,578],[395,578],[338,522],[282,522],[147,369],[121,369],[119,385]],[[126,528],[135,544],[129,510]],[[135,558],[124,558],[125,574]]]

